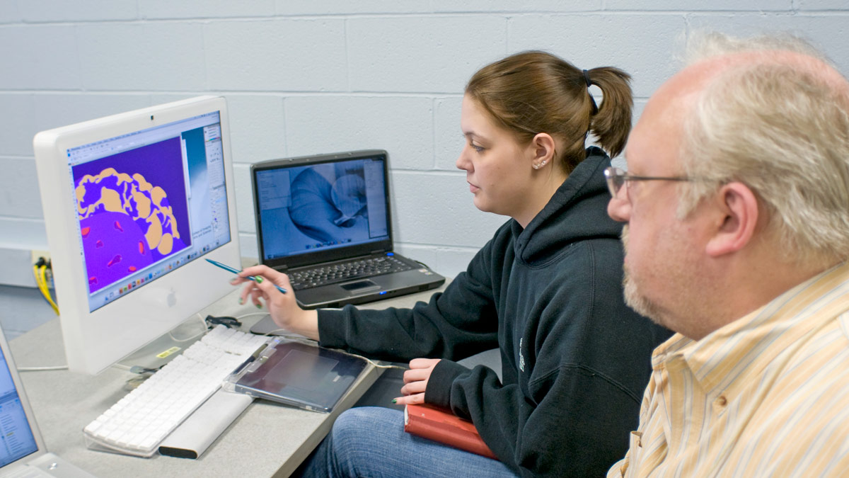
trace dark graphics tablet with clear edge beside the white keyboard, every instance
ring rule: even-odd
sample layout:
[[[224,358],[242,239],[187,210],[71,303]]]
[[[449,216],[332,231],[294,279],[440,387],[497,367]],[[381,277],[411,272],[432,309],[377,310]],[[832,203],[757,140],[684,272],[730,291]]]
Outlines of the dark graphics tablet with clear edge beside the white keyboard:
[[[322,413],[333,411],[366,367],[360,357],[279,338],[255,357],[222,388]]]

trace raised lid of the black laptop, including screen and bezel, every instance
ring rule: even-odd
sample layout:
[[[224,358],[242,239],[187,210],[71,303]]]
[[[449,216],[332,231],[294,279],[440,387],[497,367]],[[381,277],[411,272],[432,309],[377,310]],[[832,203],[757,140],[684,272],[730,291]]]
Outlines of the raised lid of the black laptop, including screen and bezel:
[[[386,151],[251,166],[261,264],[285,270],[392,250]]]

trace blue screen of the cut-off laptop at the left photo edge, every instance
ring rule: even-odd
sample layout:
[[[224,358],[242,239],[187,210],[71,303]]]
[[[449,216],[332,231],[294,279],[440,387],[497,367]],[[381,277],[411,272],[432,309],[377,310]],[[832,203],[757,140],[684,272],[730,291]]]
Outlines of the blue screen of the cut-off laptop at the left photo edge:
[[[6,466],[38,451],[18,390],[14,387],[8,362],[0,350],[0,466]]]

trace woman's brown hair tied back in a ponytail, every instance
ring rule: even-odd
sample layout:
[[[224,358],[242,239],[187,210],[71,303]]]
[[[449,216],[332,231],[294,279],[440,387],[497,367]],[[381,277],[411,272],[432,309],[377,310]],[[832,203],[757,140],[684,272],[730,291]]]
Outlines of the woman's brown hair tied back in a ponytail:
[[[612,66],[579,70],[543,51],[512,54],[477,71],[465,93],[520,142],[548,133],[565,151],[555,161],[566,174],[587,156],[585,140],[592,132],[610,156],[621,153],[631,131],[631,76]],[[596,107],[589,85],[604,95]]]

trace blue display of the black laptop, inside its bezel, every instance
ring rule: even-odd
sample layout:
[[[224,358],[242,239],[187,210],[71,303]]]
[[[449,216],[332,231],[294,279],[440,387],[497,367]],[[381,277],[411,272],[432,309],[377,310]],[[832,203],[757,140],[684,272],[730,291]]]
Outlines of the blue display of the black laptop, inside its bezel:
[[[353,159],[258,171],[263,259],[388,239],[384,168]]]

